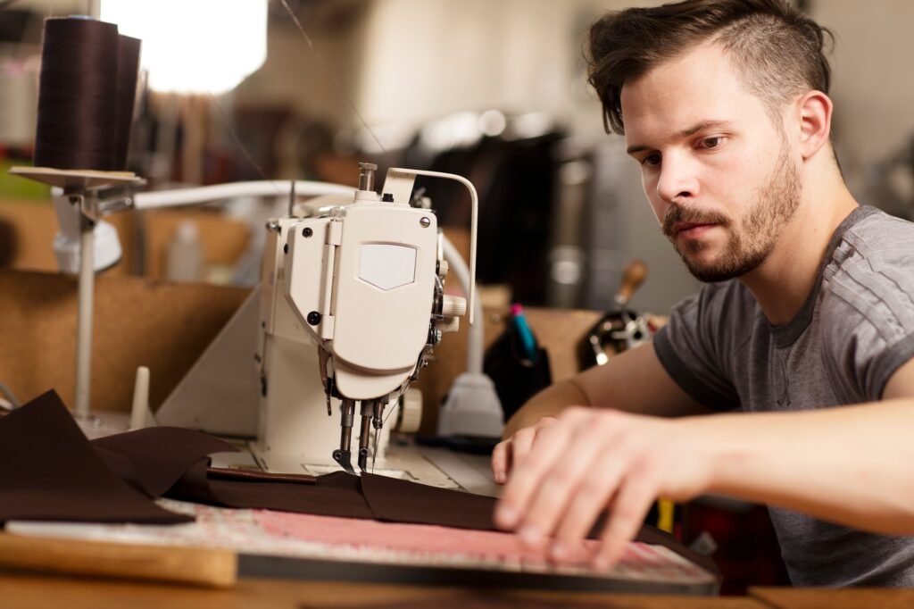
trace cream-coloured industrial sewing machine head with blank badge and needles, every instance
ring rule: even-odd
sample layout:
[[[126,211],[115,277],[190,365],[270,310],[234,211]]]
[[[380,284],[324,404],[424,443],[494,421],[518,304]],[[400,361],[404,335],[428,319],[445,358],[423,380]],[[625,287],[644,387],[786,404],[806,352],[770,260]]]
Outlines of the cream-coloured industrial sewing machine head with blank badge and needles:
[[[378,195],[376,166],[360,168],[354,198],[314,199],[313,215],[270,224],[259,443],[268,466],[270,453],[288,453],[288,443],[303,438],[310,445],[300,457],[320,462],[314,446],[326,451],[331,434],[315,419],[326,420],[338,403],[339,433],[332,434],[338,442],[324,454],[354,472],[350,443],[360,403],[357,464],[365,471],[369,455],[377,458],[388,404],[396,407],[467,309],[465,299],[443,293],[448,265],[441,233],[427,199],[423,204],[412,196],[423,172],[391,169]],[[318,390],[325,410],[314,403]],[[297,440],[290,430],[297,430]]]

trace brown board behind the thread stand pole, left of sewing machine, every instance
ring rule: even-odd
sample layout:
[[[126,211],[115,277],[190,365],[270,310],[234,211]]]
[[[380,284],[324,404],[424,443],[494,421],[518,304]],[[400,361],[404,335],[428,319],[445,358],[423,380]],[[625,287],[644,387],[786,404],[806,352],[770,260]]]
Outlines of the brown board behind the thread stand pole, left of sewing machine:
[[[150,404],[157,407],[248,293],[101,274],[92,408],[129,411],[138,366],[150,369]],[[55,389],[64,403],[74,403],[76,294],[70,277],[0,271],[0,382],[20,401]]]

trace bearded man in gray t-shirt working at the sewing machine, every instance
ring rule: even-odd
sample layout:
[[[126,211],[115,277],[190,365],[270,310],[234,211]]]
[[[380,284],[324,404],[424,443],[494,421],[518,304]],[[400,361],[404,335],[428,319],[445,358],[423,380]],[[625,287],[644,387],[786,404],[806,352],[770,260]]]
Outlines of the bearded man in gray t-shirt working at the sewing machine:
[[[556,560],[604,508],[606,568],[655,497],[713,492],[771,506],[796,585],[914,585],[914,538],[899,536],[914,533],[914,225],[845,187],[826,34],[781,0],[591,27],[606,120],[707,284],[653,345],[508,423],[496,523]],[[743,413],[696,416],[712,411]]]

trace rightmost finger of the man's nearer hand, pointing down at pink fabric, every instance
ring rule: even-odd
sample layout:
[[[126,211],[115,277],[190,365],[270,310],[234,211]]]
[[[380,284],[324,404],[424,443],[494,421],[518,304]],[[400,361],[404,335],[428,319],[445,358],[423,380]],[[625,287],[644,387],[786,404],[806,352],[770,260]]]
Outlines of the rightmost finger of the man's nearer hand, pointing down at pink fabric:
[[[606,529],[600,535],[600,550],[593,559],[593,566],[606,571],[615,565],[625,552],[625,546],[641,529],[644,517],[654,501],[656,492],[654,476],[632,472],[625,480],[610,510]]]

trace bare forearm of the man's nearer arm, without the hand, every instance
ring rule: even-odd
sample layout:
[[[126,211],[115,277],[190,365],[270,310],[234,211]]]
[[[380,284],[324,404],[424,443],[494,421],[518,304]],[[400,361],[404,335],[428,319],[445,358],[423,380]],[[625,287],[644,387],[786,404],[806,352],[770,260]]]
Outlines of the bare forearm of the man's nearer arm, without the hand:
[[[711,492],[882,533],[914,533],[914,401],[682,420],[713,446]]]

